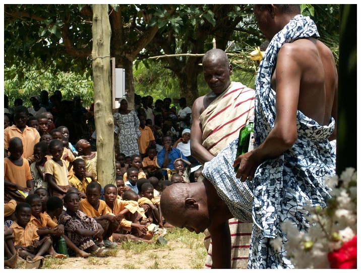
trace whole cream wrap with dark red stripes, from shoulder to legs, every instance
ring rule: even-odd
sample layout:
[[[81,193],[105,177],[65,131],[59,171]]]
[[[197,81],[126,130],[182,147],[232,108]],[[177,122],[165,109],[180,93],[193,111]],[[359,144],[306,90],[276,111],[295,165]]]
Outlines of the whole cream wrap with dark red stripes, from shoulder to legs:
[[[200,115],[203,146],[216,156],[228,143],[238,137],[250,116],[254,115],[255,91],[240,82],[229,87],[214,99]],[[232,218],[228,221],[231,234],[231,268],[247,268],[252,223]],[[208,249],[205,267],[212,267],[212,241],[208,230],[204,232]]]

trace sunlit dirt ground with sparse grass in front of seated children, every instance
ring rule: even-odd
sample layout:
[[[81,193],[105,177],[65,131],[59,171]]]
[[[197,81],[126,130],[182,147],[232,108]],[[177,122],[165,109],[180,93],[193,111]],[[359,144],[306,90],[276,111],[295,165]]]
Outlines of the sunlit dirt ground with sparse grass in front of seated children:
[[[147,249],[143,253],[118,246],[116,257],[69,257],[53,264],[57,269],[196,269],[203,268],[206,250],[203,238],[175,238],[157,249]],[[188,239],[187,239],[188,240]]]

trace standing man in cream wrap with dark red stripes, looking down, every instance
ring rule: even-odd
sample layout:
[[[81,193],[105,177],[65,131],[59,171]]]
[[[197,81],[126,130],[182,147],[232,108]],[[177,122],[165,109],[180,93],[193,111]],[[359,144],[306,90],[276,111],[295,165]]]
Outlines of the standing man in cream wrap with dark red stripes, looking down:
[[[231,82],[232,66],[221,49],[209,50],[203,58],[204,78],[211,92],[195,100],[192,108],[191,150],[202,164],[210,161],[238,137],[239,129],[254,115],[255,92],[240,82]],[[234,173],[234,172],[233,172]],[[233,174],[235,178],[235,174]],[[231,267],[247,268],[252,224],[229,220]],[[208,253],[205,268],[212,267],[212,242],[205,231]]]

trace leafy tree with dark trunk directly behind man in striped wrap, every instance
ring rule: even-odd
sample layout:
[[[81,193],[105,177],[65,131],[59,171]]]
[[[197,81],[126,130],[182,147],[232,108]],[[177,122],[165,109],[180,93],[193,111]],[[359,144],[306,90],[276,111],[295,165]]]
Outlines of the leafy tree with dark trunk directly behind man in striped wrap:
[[[255,37],[259,32],[255,28],[249,28],[250,14],[250,5],[178,5],[174,13],[174,17],[177,17],[169,20],[168,25],[159,25],[158,33],[140,59],[159,56],[163,52],[168,55],[180,54],[152,62],[171,70],[178,78],[179,96],[187,97],[188,104],[192,105],[199,96],[198,75],[202,71],[199,65],[202,54],[213,47],[213,38],[217,48],[223,50],[227,48],[229,40],[234,38],[234,30],[251,34],[247,35],[247,41],[252,44],[258,40]],[[240,22],[243,23],[242,26]],[[187,56],[187,53],[192,55]],[[195,54],[200,56],[194,56]],[[144,62],[146,66],[150,66],[151,61]]]

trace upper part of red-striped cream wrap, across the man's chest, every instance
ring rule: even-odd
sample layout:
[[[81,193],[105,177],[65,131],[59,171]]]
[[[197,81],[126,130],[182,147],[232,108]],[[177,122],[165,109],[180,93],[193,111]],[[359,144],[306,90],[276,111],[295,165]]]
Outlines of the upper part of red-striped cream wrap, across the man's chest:
[[[216,156],[228,143],[236,139],[255,110],[255,91],[240,82],[231,82],[200,115],[202,140]]]

